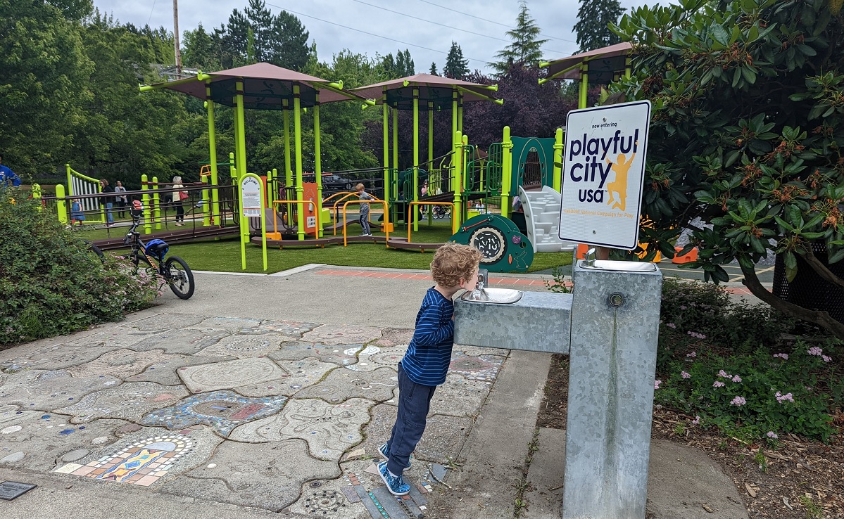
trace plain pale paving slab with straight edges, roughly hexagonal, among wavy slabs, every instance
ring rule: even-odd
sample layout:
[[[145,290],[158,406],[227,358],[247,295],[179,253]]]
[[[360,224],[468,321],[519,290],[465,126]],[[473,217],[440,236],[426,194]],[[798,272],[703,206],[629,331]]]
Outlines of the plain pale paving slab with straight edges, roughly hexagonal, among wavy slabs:
[[[289,374],[264,357],[182,367],[179,377],[193,393],[239,388],[255,384],[280,384]]]

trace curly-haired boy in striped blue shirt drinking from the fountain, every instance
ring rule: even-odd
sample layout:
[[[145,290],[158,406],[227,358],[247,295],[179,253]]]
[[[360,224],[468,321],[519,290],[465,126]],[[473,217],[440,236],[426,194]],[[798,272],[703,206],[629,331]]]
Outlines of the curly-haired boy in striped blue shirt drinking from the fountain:
[[[379,447],[387,461],[378,463],[378,473],[393,495],[406,495],[410,485],[402,472],[410,467],[414,452],[425,431],[425,417],[434,390],[446,382],[454,345],[454,305],[452,297],[464,288],[473,291],[478,284],[481,254],[468,245],[446,243],[434,254],[430,273],[436,286],[428,289],[416,314],[414,338],[398,362],[398,416],[390,440]]]

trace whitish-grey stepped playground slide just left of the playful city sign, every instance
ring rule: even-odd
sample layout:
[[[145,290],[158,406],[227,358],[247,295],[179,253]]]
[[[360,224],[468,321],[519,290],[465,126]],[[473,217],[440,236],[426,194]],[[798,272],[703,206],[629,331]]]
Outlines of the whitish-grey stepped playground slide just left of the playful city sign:
[[[525,211],[527,238],[533,252],[562,252],[575,249],[576,243],[560,239],[560,193],[544,185],[541,191],[525,191],[519,186],[519,200]]]

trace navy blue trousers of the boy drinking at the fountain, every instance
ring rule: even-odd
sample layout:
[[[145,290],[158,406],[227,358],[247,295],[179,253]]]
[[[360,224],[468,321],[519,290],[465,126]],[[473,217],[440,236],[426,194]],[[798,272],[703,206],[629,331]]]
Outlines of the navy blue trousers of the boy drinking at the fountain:
[[[387,441],[390,452],[387,470],[392,474],[398,476],[408,466],[410,453],[425,432],[425,417],[435,390],[436,386],[414,383],[404,372],[402,363],[398,363],[398,416],[392,425],[390,441]]]

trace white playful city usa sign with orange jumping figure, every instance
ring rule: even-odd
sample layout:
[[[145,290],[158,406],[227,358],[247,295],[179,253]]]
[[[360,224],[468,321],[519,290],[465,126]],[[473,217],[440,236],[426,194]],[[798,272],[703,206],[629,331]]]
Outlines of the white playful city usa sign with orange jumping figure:
[[[650,101],[569,112],[560,239],[636,249],[650,122]]]

